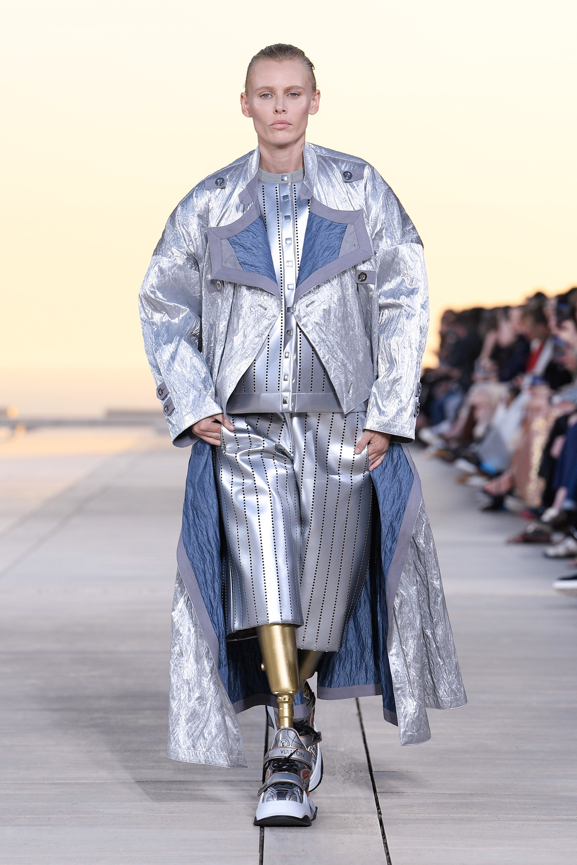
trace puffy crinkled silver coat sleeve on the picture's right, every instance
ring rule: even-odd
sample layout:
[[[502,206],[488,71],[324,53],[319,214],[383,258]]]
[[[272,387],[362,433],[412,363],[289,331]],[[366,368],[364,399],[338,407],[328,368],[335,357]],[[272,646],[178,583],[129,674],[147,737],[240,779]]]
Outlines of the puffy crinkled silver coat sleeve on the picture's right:
[[[373,244],[376,257],[377,377],[365,429],[414,440],[420,371],[429,323],[425,258],[420,237],[393,191],[374,171]]]

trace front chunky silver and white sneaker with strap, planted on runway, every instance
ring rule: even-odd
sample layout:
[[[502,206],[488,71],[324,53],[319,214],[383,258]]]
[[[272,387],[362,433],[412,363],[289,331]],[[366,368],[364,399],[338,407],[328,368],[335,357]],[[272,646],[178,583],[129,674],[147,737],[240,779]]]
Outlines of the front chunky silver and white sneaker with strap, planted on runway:
[[[297,731],[280,727],[264,759],[255,826],[310,826],[317,817],[309,793],[312,757]]]

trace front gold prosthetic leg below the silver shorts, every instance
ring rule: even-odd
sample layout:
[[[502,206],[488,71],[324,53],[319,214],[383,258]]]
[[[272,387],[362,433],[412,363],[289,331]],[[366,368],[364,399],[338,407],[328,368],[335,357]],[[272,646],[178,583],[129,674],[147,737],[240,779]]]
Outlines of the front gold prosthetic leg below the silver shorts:
[[[300,690],[295,626],[260,625],[256,632],[262,668],[272,693],[277,695],[280,726],[292,727],[294,695]]]

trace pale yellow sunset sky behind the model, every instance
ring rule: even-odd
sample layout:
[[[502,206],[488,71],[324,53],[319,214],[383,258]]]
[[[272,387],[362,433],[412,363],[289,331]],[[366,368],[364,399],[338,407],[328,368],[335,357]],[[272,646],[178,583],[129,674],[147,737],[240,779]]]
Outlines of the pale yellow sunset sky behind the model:
[[[176,203],[256,144],[250,57],[293,42],[308,138],[364,157],[425,244],[439,312],[577,283],[577,5],[3,2],[0,407],[153,406],[138,287]]]

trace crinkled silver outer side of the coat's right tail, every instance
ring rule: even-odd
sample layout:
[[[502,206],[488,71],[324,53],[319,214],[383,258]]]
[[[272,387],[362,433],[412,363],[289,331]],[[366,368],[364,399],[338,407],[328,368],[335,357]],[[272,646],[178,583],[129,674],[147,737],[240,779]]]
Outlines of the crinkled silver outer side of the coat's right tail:
[[[467,702],[422,501],[389,617],[387,650],[401,745],[415,745],[431,738],[426,707]]]

